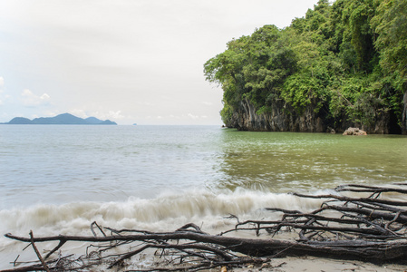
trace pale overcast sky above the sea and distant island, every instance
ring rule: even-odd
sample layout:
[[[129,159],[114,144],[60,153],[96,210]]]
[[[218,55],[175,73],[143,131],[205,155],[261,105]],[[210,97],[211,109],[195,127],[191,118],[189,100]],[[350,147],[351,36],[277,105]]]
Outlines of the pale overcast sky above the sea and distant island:
[[[0,0],[0,122],[14,117],[221,125],[203,65],[317,0]]]

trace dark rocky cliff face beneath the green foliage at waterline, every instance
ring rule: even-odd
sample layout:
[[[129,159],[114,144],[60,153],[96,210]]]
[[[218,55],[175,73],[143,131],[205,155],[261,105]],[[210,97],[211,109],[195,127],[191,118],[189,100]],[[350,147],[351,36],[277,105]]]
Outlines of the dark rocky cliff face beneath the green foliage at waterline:
[[[407,95],[405,96],[407,99]],[[229,128],[239,131],[297,131],[297,132],[344,132],[349,127],[359,127],[368,133],[390,133],[392,124],[390,114],[376,116],[376,121],[371,127],[362,126],[360,123],[334,121],[321,113],[315,113],[313,107],[307,108],[303,113],[297,113],[284,102],[275,102],[271,112],[257,114],[254,105],[247,101],[239,102],[238,108],[226,123]]]

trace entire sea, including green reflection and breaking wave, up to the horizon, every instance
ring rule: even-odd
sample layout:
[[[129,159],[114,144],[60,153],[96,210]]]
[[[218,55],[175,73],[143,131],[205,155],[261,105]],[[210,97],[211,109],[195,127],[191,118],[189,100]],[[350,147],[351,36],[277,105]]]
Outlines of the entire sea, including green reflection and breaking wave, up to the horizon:
[[[0,268],[26,246],[5,233],[92,235],[96,221],[151,231],[195,223],[217,234],[236,218],[273,217],[264,208],[321,204],[290,192],[395,182],[407,182],[402,135],[0,125]]]

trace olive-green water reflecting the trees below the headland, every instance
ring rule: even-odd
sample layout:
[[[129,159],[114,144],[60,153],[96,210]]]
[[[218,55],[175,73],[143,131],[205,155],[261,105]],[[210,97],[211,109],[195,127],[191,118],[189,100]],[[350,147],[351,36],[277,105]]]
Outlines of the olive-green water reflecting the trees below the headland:
[[[407,180],[407,138],[325,133],[225,131],[220,186],[327,189],[343,183]],[[232,142],[234,142],[232,144]]]

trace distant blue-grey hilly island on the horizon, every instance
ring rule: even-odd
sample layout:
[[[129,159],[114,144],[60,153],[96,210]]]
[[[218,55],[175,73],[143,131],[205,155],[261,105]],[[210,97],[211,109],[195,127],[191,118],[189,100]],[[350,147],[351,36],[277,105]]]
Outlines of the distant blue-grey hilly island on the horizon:
[[[15,117],[9,122],[2,124],[81,124],[81,125],[117,125],[116,122],[105,120],[102,121],[96,117],[82,119],[70,113],[59,114],[54,117],[40,117],[30,120],[24,117]]]

